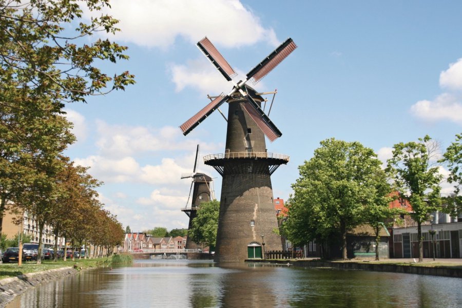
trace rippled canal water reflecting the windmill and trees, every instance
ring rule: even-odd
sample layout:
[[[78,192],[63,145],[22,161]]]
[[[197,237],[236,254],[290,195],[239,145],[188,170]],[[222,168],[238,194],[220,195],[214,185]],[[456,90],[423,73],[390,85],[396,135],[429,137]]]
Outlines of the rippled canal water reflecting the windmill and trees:
[[[462,279],[140,260],[43,284],[7,307],[462,307]]]

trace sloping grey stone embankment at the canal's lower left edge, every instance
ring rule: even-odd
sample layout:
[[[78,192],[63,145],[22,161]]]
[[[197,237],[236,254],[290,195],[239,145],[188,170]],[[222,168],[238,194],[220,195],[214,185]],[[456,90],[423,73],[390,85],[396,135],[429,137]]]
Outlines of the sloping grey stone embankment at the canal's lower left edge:
[[[5,307],[16,296],[23,294],[28,288],[41,283],[55,281],[63,277],[79,273],[72,267],[50,269],[44,272],[28,273],[0,280],[0,308]]]

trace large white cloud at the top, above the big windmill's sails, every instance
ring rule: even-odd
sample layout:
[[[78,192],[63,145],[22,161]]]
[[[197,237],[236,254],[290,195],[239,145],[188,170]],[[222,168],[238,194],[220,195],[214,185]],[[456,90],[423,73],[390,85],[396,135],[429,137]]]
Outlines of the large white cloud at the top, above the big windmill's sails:
[[[120,20],[118,40],[140,46],[167,48],[177,37],[196,43],[206,35],[225,47],[278,44],[274,30],[238,0],[112,0],[104,12]]]

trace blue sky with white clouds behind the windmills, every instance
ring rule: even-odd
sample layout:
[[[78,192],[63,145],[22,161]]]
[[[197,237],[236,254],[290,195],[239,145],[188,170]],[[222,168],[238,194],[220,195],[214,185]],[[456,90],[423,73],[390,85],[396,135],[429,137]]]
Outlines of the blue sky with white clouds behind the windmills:
[[[269,118],[282,137],[267,148],[290,156],[272,176],[275,198],[288,198],[324,139],[359,141],[386,161],[396,143],[428,134],[444,151],[462,132],[462,2],[113,0],[106,11],[120,20],[109,38],[130,60],[101,67],[137,83],[67,105],[78,141],[66,155],[104,182],[100,200],[133,232],[187,228],[181,174],[192,172],[197,144],[201,157],[225,150],[219,112],[187,136],[179,129],[207,94],[232,89],[197,48],[204,36],[235,81],[287,37],[298,46],[255,86],[277,89]],[[200,161],[219,200],[221,176]]]

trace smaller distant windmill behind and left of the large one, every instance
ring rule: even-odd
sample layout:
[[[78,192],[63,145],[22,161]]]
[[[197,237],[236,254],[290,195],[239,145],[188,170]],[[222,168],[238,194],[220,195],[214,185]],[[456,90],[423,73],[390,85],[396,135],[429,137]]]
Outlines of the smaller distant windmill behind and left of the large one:
[[[211,192],[213,190],[210,189],[210,183],[212,179],[203,173],[196,173],[196,167],[199,157],[199,144],[197,145],[196,150],[196,159],[194,161],[194,168],[192,169],[191,174],[182,174],[182,179],[191,178],[191,187],[189,187],[189,195],[188,201],[186,202],[186,207],[182,208],[181,210],[186,213],[189,217],[189,225],[188,229],[191,228],[192,220],[197,216],[197,210],[202,202],[210,201],[210,198],[213,194]],[[193,189],[194,186],[194,189]],[[191,197],[192,191],[192,201],[191,206],[189,207],[189,199]],[[195,249],[198,248],[199,245],[190,240],[189,237],[186,239],[186,249]]]

